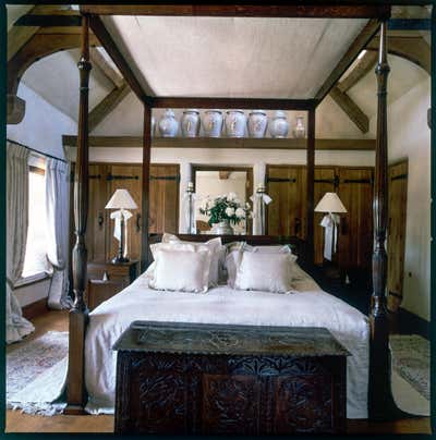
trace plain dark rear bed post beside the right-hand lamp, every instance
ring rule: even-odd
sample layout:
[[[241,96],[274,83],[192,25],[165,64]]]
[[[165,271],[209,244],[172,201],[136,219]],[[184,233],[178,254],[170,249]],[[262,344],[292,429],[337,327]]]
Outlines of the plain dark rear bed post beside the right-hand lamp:
[[[307,264],[314,262],[314,183],[315,183],[315,108],[307,112],[307,221],[306,257]]]

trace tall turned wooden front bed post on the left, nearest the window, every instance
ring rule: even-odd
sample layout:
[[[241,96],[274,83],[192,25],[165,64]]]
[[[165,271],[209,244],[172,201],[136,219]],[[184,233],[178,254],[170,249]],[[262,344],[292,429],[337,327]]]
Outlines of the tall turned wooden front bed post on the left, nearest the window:
[[[89,94],[89,27],[88,16],[82,16],[82,56],[77,154],[74,175],[74,224],[76,242],[73,249],[74,305],[70,310],[69,371],[65,414],[83,414],[86,404],[85,333],[88,309],[84,300],[86,288],[87,249],[85,244],[88,215],[88,94]]]

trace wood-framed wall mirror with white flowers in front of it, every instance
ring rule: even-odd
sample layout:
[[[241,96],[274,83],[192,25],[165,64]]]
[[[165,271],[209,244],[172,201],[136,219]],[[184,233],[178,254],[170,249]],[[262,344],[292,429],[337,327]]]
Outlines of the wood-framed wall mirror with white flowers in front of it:
[[[193,182],[194,224],[197,234],[252,233],[252,168],[194,166]]]

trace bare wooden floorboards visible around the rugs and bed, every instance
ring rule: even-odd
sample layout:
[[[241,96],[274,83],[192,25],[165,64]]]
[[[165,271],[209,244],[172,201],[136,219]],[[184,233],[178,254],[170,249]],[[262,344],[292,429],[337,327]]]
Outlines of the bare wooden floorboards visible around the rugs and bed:
[[[50,311],[35,318],[35,332],[28,339],[35,339],[49,330],[68,331],[68,313]],[[14,345],[8,351],[14,350]],[[7,411],[7,432],[113,432],[113,416],[34,416],[20,411]],[[397,420],[395,423],[370,423],[367,420],[348,420],[348,433],[431,433],[429,417]]]

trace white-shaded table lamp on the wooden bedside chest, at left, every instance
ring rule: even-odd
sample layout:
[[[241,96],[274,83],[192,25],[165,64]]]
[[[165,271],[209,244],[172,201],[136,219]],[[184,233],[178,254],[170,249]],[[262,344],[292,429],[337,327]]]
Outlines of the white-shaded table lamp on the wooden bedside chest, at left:
[[[129,258],[124,253],[124,233],[125,233],[125,221],[132,217],[132,213],[126,209],[137,209],[137,205],[132,196],[129,194],[128,190],[117,190],[108,204],[106,209],[119,209],[112,212],[110,217],[116,220],[116,228],[113,230],[113,236],[120,242],[118,247],[118,255],[112,258],[112,264],[129,262]],[[125,254],[125,255],[124,255]]]

